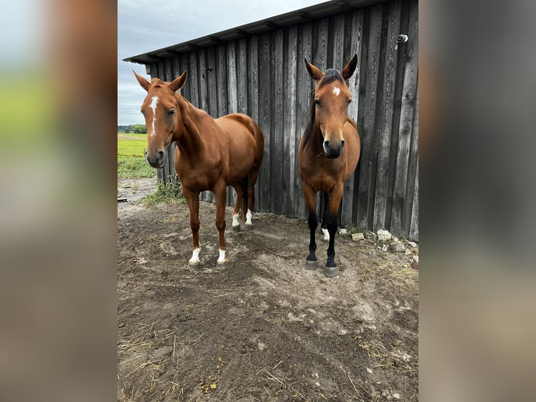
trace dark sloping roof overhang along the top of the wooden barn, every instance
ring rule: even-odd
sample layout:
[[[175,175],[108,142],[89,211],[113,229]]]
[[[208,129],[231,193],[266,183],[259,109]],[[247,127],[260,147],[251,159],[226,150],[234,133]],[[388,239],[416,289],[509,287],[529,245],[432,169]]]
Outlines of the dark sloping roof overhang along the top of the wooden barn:
[[[123,59],[123,61],[137,64],[148,64],[150,62],[172,57],[174,55],[180,55],[181,53],[188,53],[199,48],[214,46],[218,43],[224,43],[227,41],[234,41],[235,39],[241,39],[246,36],[261,34],[262,32],[271,31],[273,29],[299,24],[300,22],[318,20],[319,18],[326,17],[327,15],[344,13],[345,11],[369,6],[371,4],[381,3],[382,1],[386,0],[326,1],[325,3],[316,4],[315,6],[301,8],[297,11],[290,11],[290,13],[276,15],[275,17],[266,18],[265,20],[251,22],[250,24],[241,25],[240,27],[232,29],[226,29],[225,31],[218,32],[216,34],[202,36],[198,39],[192,39],[191,41],[185,41],[173,46],[168,46],[167,48],[127,57],[126,59]]]

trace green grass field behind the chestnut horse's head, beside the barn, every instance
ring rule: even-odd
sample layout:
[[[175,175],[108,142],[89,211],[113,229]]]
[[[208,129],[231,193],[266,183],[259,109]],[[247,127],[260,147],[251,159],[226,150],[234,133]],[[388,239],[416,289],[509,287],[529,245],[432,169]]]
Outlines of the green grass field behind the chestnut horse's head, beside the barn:
[[[156,176],[143,156],[146,146],[147,134],[118,133],[118,179]]]

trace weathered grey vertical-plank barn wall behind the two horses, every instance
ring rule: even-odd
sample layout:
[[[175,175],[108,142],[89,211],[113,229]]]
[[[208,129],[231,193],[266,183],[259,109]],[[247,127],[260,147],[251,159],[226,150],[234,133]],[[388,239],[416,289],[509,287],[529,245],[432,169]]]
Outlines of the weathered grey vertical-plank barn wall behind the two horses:
[[[397,45],[399,34],[409,41]],[[265,155],[256,209],[306,219],[297,155],[314,83],[304,58],[320,69],[340,70],[355,53],[349,113],[358,124],[362,151],[358,169],[345,183],[340,223],[418,240],[417,0],[386,1],[215,43],[153,62],[150,71],[171,81],[188,70],[182,95],[192,104],[214,118],[240,112],[257,121]],[[174,172],[173,152],[169,165],[159,169],[161,179]],[[228,204],[234,204],[234,190],[227,193]],[[210,192],[201,199],[214,201]]]

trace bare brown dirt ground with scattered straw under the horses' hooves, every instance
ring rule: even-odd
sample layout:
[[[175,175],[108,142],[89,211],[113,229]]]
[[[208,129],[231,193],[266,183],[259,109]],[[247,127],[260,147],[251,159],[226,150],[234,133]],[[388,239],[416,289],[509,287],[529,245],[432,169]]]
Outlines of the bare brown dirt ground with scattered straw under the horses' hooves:
[[[418,247],[337,235],[339,276],[305,270],[306,221],[227,230],[201,202],[202,270],[186,269],[185,204],[146,208],[155,179],[118,183],[118,401],[418,401]],[[231,209],[227,208],[227,228]]]

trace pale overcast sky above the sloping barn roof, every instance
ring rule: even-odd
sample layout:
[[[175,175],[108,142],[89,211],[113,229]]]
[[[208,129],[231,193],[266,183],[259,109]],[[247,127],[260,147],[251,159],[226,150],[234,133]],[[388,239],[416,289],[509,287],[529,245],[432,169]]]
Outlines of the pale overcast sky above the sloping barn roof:
[[[132,69],[148,78],[145,66],[122,59],[323,2],[119,0],[118,125],[145,123],[139,108],[146,92],[134,78]]]

